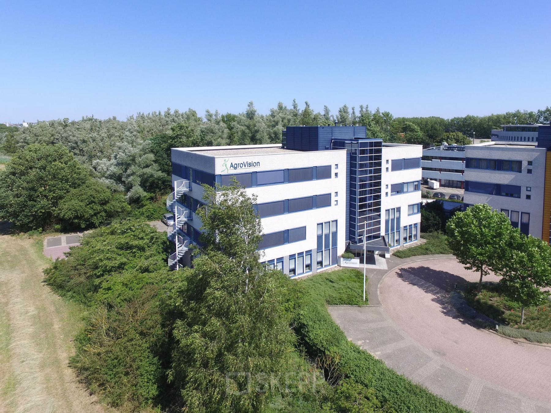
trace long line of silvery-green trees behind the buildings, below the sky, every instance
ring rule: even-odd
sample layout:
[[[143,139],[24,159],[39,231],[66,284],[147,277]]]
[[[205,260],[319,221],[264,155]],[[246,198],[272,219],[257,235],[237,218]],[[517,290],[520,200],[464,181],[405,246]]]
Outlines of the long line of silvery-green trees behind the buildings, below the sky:
[[[282,102],[269,113],[258,113],[252,102],[244,112],[206,111],[201,117],[193,109],[138,113],[125,121],[116,117],[87,116],[37,122],[27,128],[1,128],[0,153],[13,155],[31,144],[62,144],[91,175],[112,192],[125,194],[128,202],[140,202],[148,194],[170,188],[170,147],[249,145],[279,143],[290,125],[360,125],[371,138],[385,142],[428,146],[441,142],[466,144],[474,134],[490,138],[491,129],[506,123],[549,123],[551,107],[538,111],[506,112],[489,116],[394,117],[368,105],[343,105],[336,113],[328,106],[315,112],[305,102],[291,107]]]

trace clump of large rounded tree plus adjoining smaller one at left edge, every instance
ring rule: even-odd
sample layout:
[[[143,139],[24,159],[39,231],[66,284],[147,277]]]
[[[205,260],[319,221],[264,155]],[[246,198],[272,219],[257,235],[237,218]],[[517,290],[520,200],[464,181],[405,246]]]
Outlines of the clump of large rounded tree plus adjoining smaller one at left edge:
[[[63,145],[29,145],[0,171],[0,219],[21,230],[85,229],[127,210]]]

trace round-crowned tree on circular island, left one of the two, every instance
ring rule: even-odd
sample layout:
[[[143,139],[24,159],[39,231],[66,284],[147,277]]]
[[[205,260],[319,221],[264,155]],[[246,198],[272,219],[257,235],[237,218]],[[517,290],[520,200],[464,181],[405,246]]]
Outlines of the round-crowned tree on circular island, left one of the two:
[[[488,204],[478,204],[457,212],[447,222],[448,244],[465,269],[480,273],[482,279],[493,268],[501,268],[510,249],[515,229],[511,222]]]

